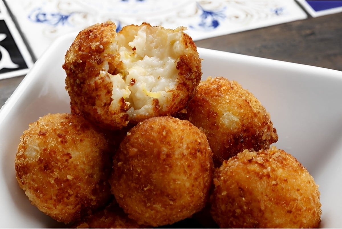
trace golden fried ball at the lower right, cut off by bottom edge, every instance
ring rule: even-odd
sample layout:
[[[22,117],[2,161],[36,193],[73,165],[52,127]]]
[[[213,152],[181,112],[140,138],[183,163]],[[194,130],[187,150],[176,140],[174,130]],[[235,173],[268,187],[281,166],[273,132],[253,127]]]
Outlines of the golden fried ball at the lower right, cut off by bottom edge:
[[[214,173],[211,214],[221,228],[316,228],[320,193],[300,162],[273,146],[244,150]]]

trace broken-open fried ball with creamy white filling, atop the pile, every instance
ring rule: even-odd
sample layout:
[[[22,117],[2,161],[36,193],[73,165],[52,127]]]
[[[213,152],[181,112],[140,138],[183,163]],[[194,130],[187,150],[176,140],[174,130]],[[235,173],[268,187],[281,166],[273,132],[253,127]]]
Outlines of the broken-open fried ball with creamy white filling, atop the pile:
[[[81,31],[63,64],[71,107],[108,129],[185,108],[202,72],[183,31],[143,23],[117,33],[110,21]]]

